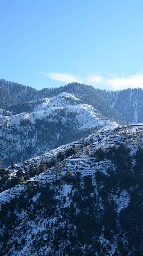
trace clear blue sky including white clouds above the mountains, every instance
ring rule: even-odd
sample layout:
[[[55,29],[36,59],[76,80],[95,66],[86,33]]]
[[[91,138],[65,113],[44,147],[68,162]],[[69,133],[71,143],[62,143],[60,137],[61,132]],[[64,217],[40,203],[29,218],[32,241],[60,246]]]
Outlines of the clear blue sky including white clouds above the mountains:
[[[143,87],[143,1],[0,0],[0,78]]]

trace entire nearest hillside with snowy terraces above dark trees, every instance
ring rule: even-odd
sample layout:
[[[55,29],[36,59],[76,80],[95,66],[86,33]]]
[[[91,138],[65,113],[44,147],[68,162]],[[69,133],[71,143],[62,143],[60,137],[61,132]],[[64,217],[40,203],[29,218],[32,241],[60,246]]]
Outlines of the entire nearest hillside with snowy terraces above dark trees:
[[[142,255],[142,147],[142,124],[108,127],[11,166],[1,255]]]

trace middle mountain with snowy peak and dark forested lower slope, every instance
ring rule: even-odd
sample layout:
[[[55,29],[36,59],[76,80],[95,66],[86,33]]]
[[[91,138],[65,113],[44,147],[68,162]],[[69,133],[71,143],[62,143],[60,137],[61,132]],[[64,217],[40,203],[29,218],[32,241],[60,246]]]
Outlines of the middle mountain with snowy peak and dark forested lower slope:
[[[81,102],[74,94],[63,92],[53,98],[29,102],[30,113],[1,116],[0,145],[4,165],[45,153],[109,124],[117,126],[92,106]]]

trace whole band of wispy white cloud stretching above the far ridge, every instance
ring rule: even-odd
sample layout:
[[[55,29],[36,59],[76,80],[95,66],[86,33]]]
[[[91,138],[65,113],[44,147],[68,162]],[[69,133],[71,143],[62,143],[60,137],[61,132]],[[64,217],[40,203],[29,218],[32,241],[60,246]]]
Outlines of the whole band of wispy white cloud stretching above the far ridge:
[[[126,88],[143,88],[143,74],[139,73],[136,75],[131,75],[128,77],[119,77],[116,74],[108,74],[105,76],[100,75],[91,75],[87,77],[78,77],[69,73],[44,73],[41,74],[49,77],[53,80],[62,81],[65,83],[84,83],[88,85],[92,85],[96,88],[105,88],[109,90],[122,90]]]

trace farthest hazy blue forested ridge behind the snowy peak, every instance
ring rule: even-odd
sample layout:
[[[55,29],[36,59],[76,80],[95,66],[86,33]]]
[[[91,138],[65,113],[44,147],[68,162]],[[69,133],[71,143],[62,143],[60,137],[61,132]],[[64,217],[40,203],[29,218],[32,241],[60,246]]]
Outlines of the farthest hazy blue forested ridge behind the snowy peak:
[[[53,98],[62,92],[73,93],[82,103],[92,105],[105,118],[119,124],[143,122],[143,89],[132,88],[113,92],[92,86],[72,83],[59,88],[36,90],[0,79],[0,108],[13,113],[31,112],[33,103],[41,98]],[[28,103],[26,103],[28,102]],[[23,104],[24,103],[24,104]]]

